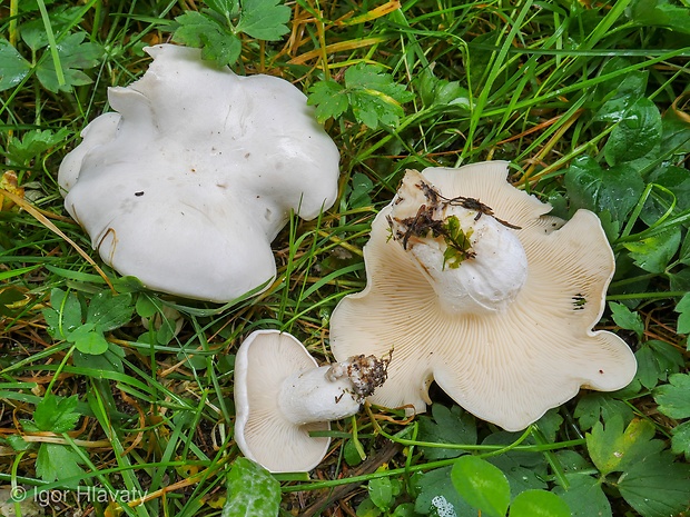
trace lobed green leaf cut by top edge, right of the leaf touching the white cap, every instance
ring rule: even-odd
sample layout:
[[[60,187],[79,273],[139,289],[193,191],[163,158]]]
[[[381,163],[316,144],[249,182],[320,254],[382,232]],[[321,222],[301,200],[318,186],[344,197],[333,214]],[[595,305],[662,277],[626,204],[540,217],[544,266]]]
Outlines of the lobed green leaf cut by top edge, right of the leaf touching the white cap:
[[[276,41],[289,32],[292,9],[282,0],[241,0],[237,30],[259,40]]]

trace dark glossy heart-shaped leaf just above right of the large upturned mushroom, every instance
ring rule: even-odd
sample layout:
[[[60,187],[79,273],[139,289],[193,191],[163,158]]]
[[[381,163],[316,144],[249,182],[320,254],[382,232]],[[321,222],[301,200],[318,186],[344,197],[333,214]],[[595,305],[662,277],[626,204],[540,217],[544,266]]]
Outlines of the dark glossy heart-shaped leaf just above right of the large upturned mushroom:
[[[597,213],[609,211],[617,221],[624,221],[644,191],[640,173],[627,165],[603,170],[589,157],[581,157],[565,171],[565,189],[574,208]]]

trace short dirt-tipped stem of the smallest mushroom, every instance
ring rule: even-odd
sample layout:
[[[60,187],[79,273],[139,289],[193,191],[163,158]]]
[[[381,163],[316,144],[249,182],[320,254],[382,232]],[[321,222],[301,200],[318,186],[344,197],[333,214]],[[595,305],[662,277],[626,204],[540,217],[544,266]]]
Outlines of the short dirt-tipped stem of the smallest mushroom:
[[[349,417],[385,381],[388,361],[390,358],[354,356],[294,374],[283,382],[279,406],[296,425]]]

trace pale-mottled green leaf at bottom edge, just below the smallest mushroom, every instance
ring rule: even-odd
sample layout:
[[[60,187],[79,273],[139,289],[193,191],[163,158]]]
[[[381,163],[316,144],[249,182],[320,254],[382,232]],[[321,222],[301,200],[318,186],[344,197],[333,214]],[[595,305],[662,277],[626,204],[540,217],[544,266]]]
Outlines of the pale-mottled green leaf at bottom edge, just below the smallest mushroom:
[[[280,484],[247,458],[237,458],[227,477],[228,496],[221,517],[276,517]]]

